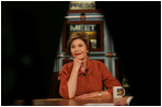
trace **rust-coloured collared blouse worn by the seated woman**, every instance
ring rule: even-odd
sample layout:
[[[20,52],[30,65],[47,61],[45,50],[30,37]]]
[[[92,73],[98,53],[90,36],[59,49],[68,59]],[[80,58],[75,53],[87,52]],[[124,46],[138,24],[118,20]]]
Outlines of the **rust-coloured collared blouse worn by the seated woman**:
[[[66,63],[59,72],[60,87],[59,93],[63,98],[69,98],[68,80],[72,71],[73,62]],[[79,71],[76,96],[91,92],[100,92],[103,85],[113,95],[113,86],[120,86],[121,84],[112,75],[104,63],[97,60],[90,60],[85,73]]]

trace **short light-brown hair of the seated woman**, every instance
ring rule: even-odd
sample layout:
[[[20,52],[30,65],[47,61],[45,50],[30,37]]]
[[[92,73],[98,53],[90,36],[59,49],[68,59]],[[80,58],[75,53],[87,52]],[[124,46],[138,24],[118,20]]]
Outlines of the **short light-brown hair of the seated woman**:
[[[74,32],[70,35],[69,39],[68,39],[68,43],[67,43],[67,54],[70,54],[71,55],[71,51],[70,51],[70,47],[71,47],[71,43],[74,40],[74,39],[78,39],[80,38],[81,40],[83,40],[83,43],[86,45],[86,48],[90,52],[91,50],[91,41],[90,41],[90,37],[86,33],[84,32]]]

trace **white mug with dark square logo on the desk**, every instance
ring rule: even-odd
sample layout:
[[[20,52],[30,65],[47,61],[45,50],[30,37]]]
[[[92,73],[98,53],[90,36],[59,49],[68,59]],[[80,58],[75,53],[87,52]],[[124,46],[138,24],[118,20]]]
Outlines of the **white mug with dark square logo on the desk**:
[[[123,86],[113,86],[113,99],[121,98],[125,96],[125,88]]]

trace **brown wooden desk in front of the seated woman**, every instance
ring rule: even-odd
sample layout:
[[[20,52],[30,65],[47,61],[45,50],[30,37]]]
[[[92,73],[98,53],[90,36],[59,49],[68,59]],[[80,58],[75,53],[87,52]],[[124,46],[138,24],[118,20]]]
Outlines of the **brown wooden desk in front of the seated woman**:
[[[20,105],[20,103],[16,103]],[[65,99],[65,98],[45,98],[33,99],[33,106],[113,106],[113,100],[106,98],[84,98],[84,99]]]

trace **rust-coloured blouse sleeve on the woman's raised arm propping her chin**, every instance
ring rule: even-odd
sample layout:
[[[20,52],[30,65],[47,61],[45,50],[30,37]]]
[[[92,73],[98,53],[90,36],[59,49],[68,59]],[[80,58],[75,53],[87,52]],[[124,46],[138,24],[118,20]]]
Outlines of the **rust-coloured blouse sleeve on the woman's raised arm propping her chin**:
[[[61,71],[59,72],[59,79],[60,79],[60,87],[59,87],[59,94],[63,98],[69,98],[69,93],[68,93],[68,80],[70,78],[70,74],[68,73],[68,66],[65,64],[61,68]]]

